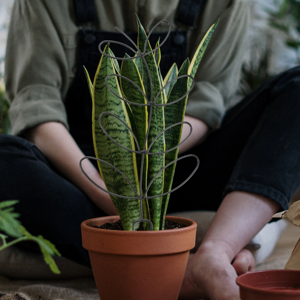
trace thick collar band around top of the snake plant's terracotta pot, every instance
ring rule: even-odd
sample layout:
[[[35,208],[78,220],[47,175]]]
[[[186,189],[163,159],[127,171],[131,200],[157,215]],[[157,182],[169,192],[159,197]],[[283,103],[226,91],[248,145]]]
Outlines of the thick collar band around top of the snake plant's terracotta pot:
[[[82,245],[90,251],[122,255],[165,255],[193,249],[196,222],[173,216],[168,216],[167,219],[185,224],[187,227],[170,230],[125,231],[89,226],[93,223],[99,226],[106,222],[115,222],[119,220],[119,216],[85,220],[81,223]]]

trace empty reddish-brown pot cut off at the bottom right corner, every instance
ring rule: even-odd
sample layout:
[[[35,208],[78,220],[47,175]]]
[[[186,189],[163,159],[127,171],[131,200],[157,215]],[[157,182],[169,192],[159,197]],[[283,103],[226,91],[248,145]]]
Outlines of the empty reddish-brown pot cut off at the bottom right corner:
[[[264,270],[238,276],[241,300],[299,300],[300,271]]]

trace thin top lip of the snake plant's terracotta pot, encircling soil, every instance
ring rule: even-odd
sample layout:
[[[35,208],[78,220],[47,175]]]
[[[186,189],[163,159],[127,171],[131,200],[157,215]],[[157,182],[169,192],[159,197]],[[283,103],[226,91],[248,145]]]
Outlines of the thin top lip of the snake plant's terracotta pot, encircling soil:
[[[185,220],[187,222],[191,222],[189,226],[178,228],[178,229],[166,229],[166,230],[147,230],[147,231],[125,231],[125,230],[112,230],[112,229],[102,229],[102,228],[94,228],[88,225],[88,223],[91,223],[93,221],[103,220],[103,219],[111,219],[111,218],[120,218],[119,215],[116,216],[105,216],[105,217],[98,217],[98,218],[92,218],[85,220],[81,223],[82,229],[90,230],[90,231],[101,231],[101,234],[113,234],[113,235],[154,235],[154,234],[176,234],[176,233],[183,233],[184,231],[190,231],[193,230],[194,227],[197,227],[197,224],[195,221],[183,218],[183,217],[174,217],[174,216],[166,216],[168,218],[176,219],[176,220]]]

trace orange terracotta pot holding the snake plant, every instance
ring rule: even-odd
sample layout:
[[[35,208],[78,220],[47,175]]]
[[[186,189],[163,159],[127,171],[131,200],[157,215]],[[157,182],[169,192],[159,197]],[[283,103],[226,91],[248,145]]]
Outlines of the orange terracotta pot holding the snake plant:
[[[116,222],[119,216],[82,222],[82,245],[88,250],[101,300],[177,300],[197,225],[181,217],[166,218],[188,227],[160,231],[91,227]]]

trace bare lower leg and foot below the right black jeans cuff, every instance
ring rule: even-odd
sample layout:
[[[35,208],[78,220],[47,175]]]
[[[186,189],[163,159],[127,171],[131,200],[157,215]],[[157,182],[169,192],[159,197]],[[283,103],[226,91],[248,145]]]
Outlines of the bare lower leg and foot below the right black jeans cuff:
[[[251,253],[241,248],[279,208],[279,204],[261,195],[241,191],[227,194],[202,244],[190,257],[179,299],[240,300],[237,273],[254,270]]]

